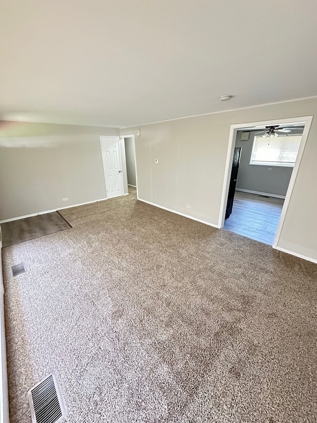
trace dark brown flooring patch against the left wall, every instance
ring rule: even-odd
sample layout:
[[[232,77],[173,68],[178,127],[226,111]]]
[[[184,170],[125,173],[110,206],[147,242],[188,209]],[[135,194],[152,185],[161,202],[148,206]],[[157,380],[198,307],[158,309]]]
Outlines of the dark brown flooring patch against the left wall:
[[[2,246],[7,247],[69,228],[69,223],[58,212],[1,223]]]

